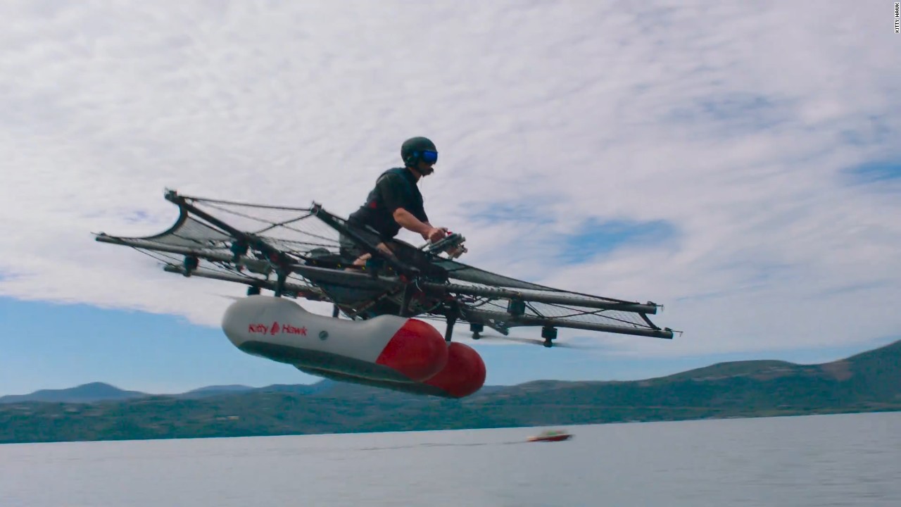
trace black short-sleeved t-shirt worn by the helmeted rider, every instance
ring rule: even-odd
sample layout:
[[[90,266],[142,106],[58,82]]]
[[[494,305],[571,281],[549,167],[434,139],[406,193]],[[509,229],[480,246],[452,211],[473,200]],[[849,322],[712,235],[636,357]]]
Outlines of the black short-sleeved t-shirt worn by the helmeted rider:
[[[403,207],[421,222],[428,222],[423,208],[423,194],[416,186],[416,177],[406,168],[383,172],[376,187],[369,192],[366,203],[348,218],[351,226],[370,226],[380,235],[391,238],[400,232],[394,212]]]

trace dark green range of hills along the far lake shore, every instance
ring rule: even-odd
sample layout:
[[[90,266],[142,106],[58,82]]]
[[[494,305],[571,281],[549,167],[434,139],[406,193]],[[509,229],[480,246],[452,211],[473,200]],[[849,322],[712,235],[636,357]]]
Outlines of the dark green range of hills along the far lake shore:
[[[106,394],[115,390],[106,384],[88,385],[105,386]],[[462,400],[331,381],[256,389],[214,386],[208,391],[211,395],[199,397],[115,392],[141,398],[6,402],[0,405],[0,442],[498,428],[901,410],[901,342],[826,364],[741,361],[634,382],[537,381],[486,387]]]

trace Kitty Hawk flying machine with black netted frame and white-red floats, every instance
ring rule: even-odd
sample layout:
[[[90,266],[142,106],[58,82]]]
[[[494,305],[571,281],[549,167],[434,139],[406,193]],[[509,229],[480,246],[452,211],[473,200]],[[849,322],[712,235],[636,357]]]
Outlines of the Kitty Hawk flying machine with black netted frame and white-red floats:
[[[539,343],[547,347],[555,346],[558,328],[673,336],[648,318],[655,303],[553,289],[460,263],[460,234],[416,247],[350,226],[317,203],[280,207],[174,190],[166,199],[179,209],[167,231],[99,233],[96,241],[148,253],[166,272],[247,285],[248,297],[225,311],[225,335],[248,354],[305,373],[460,398],[481,388],[486,369],[475,350],[452,341],[459,324],[469,325],[473,339],[486,328],[508,336],[513,327],[541,327]],[[382,242],[390,253],[379,249]],[[342,244],[369,253],[369,261],[353,266]],[[311,313],[297,299],[331,303],[332,316]],[[443,336],[423,318],[443,320]]]

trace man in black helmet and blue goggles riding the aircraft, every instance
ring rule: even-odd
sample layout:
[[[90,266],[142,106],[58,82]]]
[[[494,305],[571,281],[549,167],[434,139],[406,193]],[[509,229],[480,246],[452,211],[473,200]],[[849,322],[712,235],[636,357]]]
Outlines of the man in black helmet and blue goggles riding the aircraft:
[[[423,194],[416,183],[434,172],[438,161],[435,143],[425,137],[407,139],[400,148],[404,167],[389,169],[376,180],[376,187],[369,192],[366,203],[348,217],[348,225],[355,228],[369,226],[379,235],[378,249],[389,255],[391,249],[385,241],[400,232],[401,227],[423,236],[426,241],[436,242],[447,235],[444,227],[429,223],[423,207]],[[341,237],[341,253],[356,257],[354,266],[363,266],[369,260],[369,253],[363,253],[347,237]]]

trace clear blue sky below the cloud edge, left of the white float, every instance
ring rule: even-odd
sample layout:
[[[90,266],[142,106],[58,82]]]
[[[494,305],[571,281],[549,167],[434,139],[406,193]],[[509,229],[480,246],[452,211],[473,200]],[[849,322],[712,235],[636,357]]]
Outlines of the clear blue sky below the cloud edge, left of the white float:
[[[161,393],[316,380],[171,315],[0,297],[0,321],[0,396],[90,382]]]

